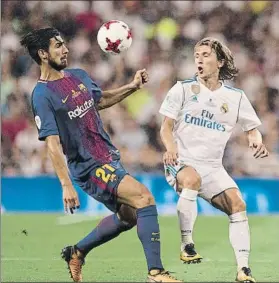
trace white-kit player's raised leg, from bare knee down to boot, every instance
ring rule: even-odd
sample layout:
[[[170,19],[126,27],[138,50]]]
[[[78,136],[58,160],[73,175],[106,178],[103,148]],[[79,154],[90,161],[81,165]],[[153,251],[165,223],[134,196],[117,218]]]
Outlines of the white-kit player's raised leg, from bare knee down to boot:
[[[183,263],[200,263],[202,256],[195,250],[193,228],[198,214],[197,196],[201,178],[197,171],[188,166],[181,169],[177,176],[177,190],[180,192],[177,213],[181,231],[180,259]]]

